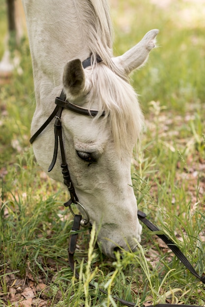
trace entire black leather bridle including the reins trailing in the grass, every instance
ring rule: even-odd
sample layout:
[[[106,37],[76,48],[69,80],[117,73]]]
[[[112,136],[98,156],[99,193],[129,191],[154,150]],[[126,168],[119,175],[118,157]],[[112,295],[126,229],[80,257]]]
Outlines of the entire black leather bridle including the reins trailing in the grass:
[[[98,55],[96,56],[96,62],[97,63],[102,62],[101,57],[98,56]],[[91,66],[91,64],[92,64],[92,57],[89,57],[85,61],[82,62],[82,66],[83,66],[84,69],[86,67]],[[67,186],[68,191],[69,191],[70,196],[71,196],[70,200],[68,202],[66,202],[64,205],[66,207],[69,207],[71,213],[74,216],[74,224],[73,224],[73,228],[72,228],[72,234],[71,234],[71,237],[70,237],[68,258],[69,258],[70,267],[71,267],[72,271],[75,272],[75,276],[78,278],[79,275],[78,275],[77,270],[75,268],[75,261],[74,261],[74,253],[75,253],[75,250],[76,250],[78,230],[79,230],[80,226],[90,227],[90,223],[89,223],[90,217],[89,217],[89,214],[88,214],[86,208],[84,207],[84,205],[79,203],[74,185],[73,185],[71,177],[70,177],[68,165],[67,165],[67,162],[66,162],[64,146],[63,146],[61,114],[62,114],[63,109],[68,109],[70,111],[73,111],[73,112],[81,114],[81,115],[95,117],[96,115],[98,115],[98,110],[89,110],[89,109],[80,107],[76,104],[73,104],[71,102],[68,102],[66,100],[66,95],[63,91],[61,92],[60,97],[56,97],[55,104],[56,104],[55,109],[53,110],[53,112],[51,113],[49,118],[46,120],[46,122],[30,138],[30,143],[32,144],[35,141],[37,136],[50,124],[51,120],[55,117],[55,123],[54,123],[54,136],[55,136],[54,152],[53,152],[52,161],[51,161],[51,164],[49,166],[48,171],[51,172],[51,170],[53,169],[53,167],[56,163],[57,153],[58,153],[58,142],[59,142],[61,160],[62,160],[61,169],[62,169],[63,181],[64,181],[64,184]],[[104,116],[104,115],[105,114],[103,112],[101,114],[101,116]],[[72,207],[71,207],[72,204],[78,205],[78,208],[80,208],[80,211],[84,212],[84,215],[85,215],[86,218],[82,219],[81,215],[75,214]],[[159,232],[159,229],[146,218],[146,214],[144,212],[138,210],[137,215],[138,215],[139,220],[141,222],[143,222],[150,230]],[[169,239],[164,234],[156,234],[156,235],[159,238],[161,238],[167,244],[167,246],[173,251],[173,253],[178,257],[178,259],[185,265],[185,267],[196,278],[198,278],[200,281],[205,283],[205,276],[202,276],[202,277],[199,276],[199,274],[195,271],[195,269],[190,264],[188,259],[183,255],[183,253],[176,246],[174,241]],[[93,283],[90,282],[89,285],[91,287],[95,288],[95,285]],[[106,295],[108,294],[106,291],[104,291],[101,288],[99,288],[99,290]],[[122,303],[122,304],[124,304],[124,305],[126,305],[126,306],[128,306],[128,307],[134,307],[135,306],[134,303],[125,301],[125,300],[118,298],[118,297],[113,297],[113,299]],[[194,305],[191,305],[191,306],[194,306]],[[158,305],[155,305],[155,307],[176,307],[176,304],[158,304]],[[190,305],[183,305],[183,307],[190,307]]]

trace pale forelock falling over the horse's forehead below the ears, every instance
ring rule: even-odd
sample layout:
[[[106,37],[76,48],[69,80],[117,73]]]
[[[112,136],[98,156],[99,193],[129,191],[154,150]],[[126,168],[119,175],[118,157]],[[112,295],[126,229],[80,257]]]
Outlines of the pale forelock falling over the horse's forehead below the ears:
[[[130,143],[140,143],[144,117],[132,86],[104,63],[92,69],[92,89],[89,95],[92,102],[98,103],[99,117],[105,111],[104,123],[110,125],[117,148],[130,151]]]

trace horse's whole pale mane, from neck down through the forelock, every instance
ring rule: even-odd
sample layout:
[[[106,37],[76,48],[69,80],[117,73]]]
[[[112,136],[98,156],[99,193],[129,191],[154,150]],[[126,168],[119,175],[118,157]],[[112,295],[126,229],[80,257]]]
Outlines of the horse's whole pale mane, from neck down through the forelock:
[[[108,1],[80,0],[79,2],[78,5],[83,6],[83,12],[81,11],[83,37],[89,40],[90,53],[94,59],[91,68],[93,86],[89,99],[91,103],[98,101],[99,116],[105,111],[104,122],[109,121],[115,144],[120,146],[123,143],[125,148],[128,148],[129,140],[134,139],[137,143],[140,138],[143,115],[127,75],[112,61],[113,28]],[[100,55],[103,62],[96,63],[96,54]]]

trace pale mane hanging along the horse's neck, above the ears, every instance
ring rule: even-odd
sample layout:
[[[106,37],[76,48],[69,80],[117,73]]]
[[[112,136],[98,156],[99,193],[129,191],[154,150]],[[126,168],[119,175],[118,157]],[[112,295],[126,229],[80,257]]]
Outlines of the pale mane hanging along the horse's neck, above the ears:
[[[111,60],[113,57],[113,28],[108,1],[81,0],[74,1],[73,5],[76,26],[84,40],[84,46],[89,46],[90,55],[94,59],[93,64],[98,54],[111,70],[127,79]]]

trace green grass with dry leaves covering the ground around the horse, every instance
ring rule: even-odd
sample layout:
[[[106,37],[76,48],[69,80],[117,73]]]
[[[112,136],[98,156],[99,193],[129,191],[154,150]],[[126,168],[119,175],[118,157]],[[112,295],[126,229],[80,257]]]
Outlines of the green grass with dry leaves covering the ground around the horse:
[[[173,3],[174,2],[174,3]],[[148,0],[112,1],[115,54],[125,52],[146,31],[159,28],[159,48],[132,75],[140,94],[147,131],[138,166],[132,165],[139,209],[166,234],[202,275],[205,271],[205,41],[200,15],[183,1],[160,8]],[[117,3],[117,4],[116,4]],[[186,4],[191,5],[191,4]],[[0,0],[5,33],[5,5]],[[136,306],[157,303],[205,304],[205,289],[171,252],[143,226],[138,252],[105,258],[91,235],[79,235],[79,281],[68,267],[72,216],[63,207],[67,194],[46,177],[29,145],[34,90],[28,42],[18,51],[23,74],[14,72],[0,86],[0,304],[29,306],[121,306],[110,294]],[[0,39],[0,56],[3,37]],[[134,160],[133,160],[134,162]],[[91,243],[89,246],[89,239]],[[90,289],[89,281],[95,284]],[[96,282],[97,281],[97,282]],[[99,291],[102,287],[108,296]],[[22,295],[24,293],[24,295]],[[43,305],[44,304],[44,305]]]

